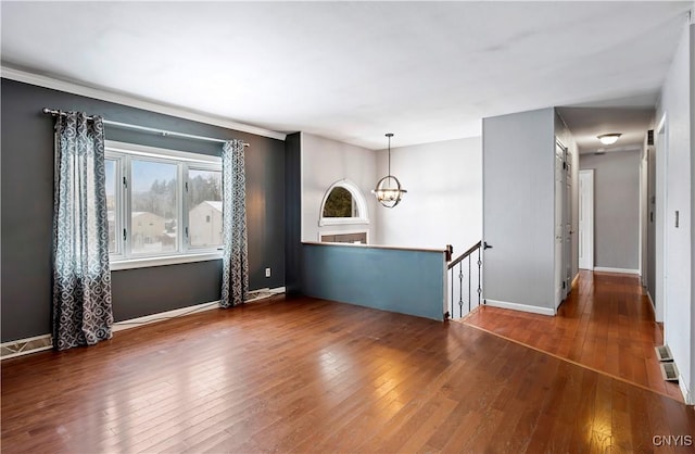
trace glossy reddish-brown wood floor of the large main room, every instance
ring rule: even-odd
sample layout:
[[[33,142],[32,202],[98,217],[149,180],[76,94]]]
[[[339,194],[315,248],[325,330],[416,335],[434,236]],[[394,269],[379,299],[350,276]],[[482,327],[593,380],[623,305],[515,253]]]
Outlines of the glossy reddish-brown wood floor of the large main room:
[[[1,363],[3,453],[692,452],[673,399],[459,323],[308,298]]]

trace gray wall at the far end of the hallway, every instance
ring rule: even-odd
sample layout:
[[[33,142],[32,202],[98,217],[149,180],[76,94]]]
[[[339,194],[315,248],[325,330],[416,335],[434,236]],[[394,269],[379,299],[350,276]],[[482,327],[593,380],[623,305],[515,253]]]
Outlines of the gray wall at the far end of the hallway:
[[[640,269],[640,152],[582,154],[594,169],[594,265]]]

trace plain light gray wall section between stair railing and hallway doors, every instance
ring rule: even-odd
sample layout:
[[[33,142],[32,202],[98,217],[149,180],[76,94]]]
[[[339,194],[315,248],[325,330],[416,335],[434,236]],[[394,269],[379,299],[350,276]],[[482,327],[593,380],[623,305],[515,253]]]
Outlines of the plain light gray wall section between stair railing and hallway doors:
[[[555,110],[483,118],[483,297],[554,313]],[[523,307],[521,307],[523,306]]]

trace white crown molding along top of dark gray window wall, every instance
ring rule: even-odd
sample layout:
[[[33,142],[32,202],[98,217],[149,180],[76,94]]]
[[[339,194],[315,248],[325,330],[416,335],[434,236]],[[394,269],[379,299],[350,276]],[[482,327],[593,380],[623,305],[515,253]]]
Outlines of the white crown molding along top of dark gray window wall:
[[[130,108],[161,113],[164,115],[172,115],[179,118],[190,119],[192,122],[205,123],[207,125],[220,126],[223,128],[254,134],[256,136],[268,137],[270,139],[285,140],[285,138],[287,137],[287,134],[285,133],[278,133],[275,130],[261,128],[258,126],[244,125],[243,123],[232,122],[224,117],[188,111],[180,106],[160,104],[132,96],[87,87],[66,80],[60,80],[52,77],[28,73],[26,71],[16,70],[13,67],[1,66],[0,70],[2,72],[2,77],[10,80],[16,80],[24,84],[36,85],[38,87],[50,88],[53,90],[64,91],[66,93],[96,98],[102,101],[114,102],[117,104],[128,105]],[[51,106],[47,105],[47,108]]]

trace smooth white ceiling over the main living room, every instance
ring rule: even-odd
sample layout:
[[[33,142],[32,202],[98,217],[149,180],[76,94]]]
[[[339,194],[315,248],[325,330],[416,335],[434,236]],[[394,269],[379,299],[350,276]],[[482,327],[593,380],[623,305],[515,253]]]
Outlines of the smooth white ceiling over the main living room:
[[[394,147],[479,136],[483,117],[554,105],[653,108],[693,5],[2,1],[1,59],[383,149],[388,131]]]

